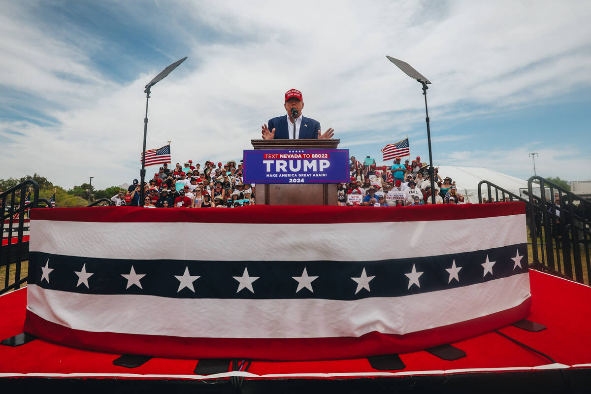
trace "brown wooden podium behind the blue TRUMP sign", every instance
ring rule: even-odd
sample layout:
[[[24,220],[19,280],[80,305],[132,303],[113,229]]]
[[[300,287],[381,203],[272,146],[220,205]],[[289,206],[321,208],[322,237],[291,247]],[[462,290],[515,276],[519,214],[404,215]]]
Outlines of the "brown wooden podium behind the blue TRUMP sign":
[[[258,149],[336,149],[340,139],[251,139]],[[255,203],[263,205],[336,205],[336,183],[256,183]]]

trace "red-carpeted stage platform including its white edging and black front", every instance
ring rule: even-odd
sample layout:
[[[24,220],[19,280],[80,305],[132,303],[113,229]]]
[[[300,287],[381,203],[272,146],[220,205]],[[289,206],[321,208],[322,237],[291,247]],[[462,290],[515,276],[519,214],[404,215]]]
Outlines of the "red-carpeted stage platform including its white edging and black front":
[[[401,370],[376,370],[368,359],[322,362],[253,360],[248,370],[197,375],[198,360],[152,358],[129,369],[113,365],[121,354],[74,349],[34,340],[0,346],[0,388],[32,392],[589,392],[591,288],[530,270],[531,316],[547,329],[498,330],[551,357],[525,349],[496,332],[454,343],[466,357],[439,359],[427,351],[400,354]],[[0,338],[22,332],[26,288],[0,297]],[[243,378],[243,379],[242,379]],[[243,380],[240,382],[240,380]],[[7,392],[8,390],[2,390]]]

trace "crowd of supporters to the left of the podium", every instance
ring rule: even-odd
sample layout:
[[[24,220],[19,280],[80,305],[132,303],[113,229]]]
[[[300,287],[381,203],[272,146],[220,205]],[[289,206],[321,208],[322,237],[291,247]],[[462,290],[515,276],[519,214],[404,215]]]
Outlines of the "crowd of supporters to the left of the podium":
[[[163,164],[144,184],[144,201],[140,201],[141,186],[137,179],[127,191],[111,198],[118,206],[147,208],[235,208],[254,204],[254,185],[244,183],[242,163],[226,164],[206,161],[203,168],[189,160],[184,167],[177,163],[174,170]]]

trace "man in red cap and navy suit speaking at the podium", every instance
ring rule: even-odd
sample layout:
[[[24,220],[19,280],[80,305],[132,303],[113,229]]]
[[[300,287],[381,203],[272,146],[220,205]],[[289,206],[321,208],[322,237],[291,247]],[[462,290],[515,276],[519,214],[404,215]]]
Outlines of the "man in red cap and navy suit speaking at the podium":
[[[330,139],[335,135],[332,128],[322,133],[320,122],[301,115],[304,100],[299,90],[290,89],[285,92],[284,107],[287,115],[269,119],[268,126],[261,126],[263,139]]]

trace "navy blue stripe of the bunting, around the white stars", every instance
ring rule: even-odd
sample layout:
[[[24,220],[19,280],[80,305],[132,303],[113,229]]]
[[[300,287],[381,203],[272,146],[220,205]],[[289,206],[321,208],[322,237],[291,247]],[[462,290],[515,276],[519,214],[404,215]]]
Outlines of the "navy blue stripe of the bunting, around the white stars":
[[[515,265],[515,256],[523,256],[521,267]],[[485,273],[482,266],[488,256],[489,262],[495,262],[491,273]],[[49,263],[47,264],[47,260]],[[446,269],[462,267],[456,279],[449,282],[450,273]],[[93,273],[87,279],[89,288],[79,282],[80,272],[86,264],[86,272]],[[46,279],[41,280],[43,270],[48,266],[53,269]],[[411,274],[413,265],[418,276],[418,284],[413,284],[406,273]],[[142,275],[139,279],[142,288],[128,285],[128,279],[122,274],[129,274],[131,268]],[[180,281],[175,276],[183,275],[189,267],[189,274],[200,276],[191,282],[194,292],[189,287],[178,291]],[[252,282],[251,292],[248,287],[239,288],[239,281],[234,276],[242,277],[248,269],[248,276],[258,276]],[[303,276],[304,268],[308,276],[317,276],[311,281],[311,288],[302,286],[297,291],[299,282],[293,276]],[[358,283],[352,278],[360,278],[365,268],[366,276],[375,276],[368,282],[369,289],[358,289]],[[506,278],[527,272],[528,256],[525,243],[476,252],[456,253],[453,255],[428,256],[421,258],[391,259],[386,261],[338,262],[338,261],[178,261],[178,260],[123,260],[97,259],[76,256],[50,255],[42,252],[30,253],[30,283],[43,288],[84,294],[144,294],[170,298],[236,298],[236,299],[298,299],[322,298],[353,300],[368,297],[402,297],[405,295],[458,288],[473,284]],[[305,284],[305,283],[304,283]],[[408,285],[412,284],[410,288]]]

